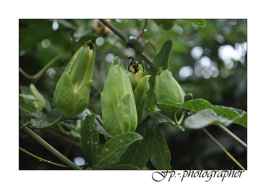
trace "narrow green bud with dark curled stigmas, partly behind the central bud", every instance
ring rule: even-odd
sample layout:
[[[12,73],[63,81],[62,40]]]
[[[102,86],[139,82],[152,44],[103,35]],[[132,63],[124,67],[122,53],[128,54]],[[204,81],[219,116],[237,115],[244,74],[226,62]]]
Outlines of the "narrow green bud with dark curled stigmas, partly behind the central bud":
[[[132,67],[129,69],[131,71],[134,70]],[[142,66],[139,65],[139,71],[136,74],[134,74],[134,72],[128,72],[127,74],[134,92],[134,99],[138,115],[138,125],[142,122],[142,118],[145,113],[145,97],[150,88],[148,83],[150,75],[147,75],[147,72],[145,70],[143,72],[142,70]]]

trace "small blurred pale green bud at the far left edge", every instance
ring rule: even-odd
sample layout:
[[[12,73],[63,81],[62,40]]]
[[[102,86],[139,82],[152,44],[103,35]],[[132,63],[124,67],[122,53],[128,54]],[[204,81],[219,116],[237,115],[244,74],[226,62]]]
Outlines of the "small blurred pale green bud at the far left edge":
[[[22,96],[23,98],[27,98],[29,100],[35,100],[33,102],[28,102],[28,103],[34,105],[36,108],[40,110],[43,110],[45,106],[45,99],[43,95],[38,91],[38,89],[35,87],[33,83],[30,84],[29,95],[19,93],[19,96]]]

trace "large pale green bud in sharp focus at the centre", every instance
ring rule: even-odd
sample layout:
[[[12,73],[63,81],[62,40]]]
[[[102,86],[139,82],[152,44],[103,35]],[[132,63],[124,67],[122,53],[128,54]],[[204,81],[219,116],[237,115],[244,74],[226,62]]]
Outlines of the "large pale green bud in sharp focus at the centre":
[[[119,60],[109,69],[101,93],[102,120],[106,130],[113,136],[134,132],[137,127],[137,110],[127,72]]]

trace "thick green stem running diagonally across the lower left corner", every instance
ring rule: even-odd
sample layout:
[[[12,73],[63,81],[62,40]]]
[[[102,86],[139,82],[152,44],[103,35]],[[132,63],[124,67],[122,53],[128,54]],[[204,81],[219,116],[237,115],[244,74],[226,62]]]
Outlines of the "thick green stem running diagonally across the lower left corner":
[[[53,148],[50,144],[48,144],[45,140],[43,140],[39,135],[37,135],[35,132],[30,130],[28,127],[24,127],[23,131],[25,131],[27,134],[29,134],[32,138],[34,138],[37,142],[39,142],[41,145],[43,145],[46,149],[48,149],[50,152],[52,152],[56,157],[58,157],[60,160],[62,160],[65,164],[69,165],[72,169],[75,170],[83,170],[74,162],[70,161],[67,157],[63,156],[60,152],[58,152],[55,148]]]

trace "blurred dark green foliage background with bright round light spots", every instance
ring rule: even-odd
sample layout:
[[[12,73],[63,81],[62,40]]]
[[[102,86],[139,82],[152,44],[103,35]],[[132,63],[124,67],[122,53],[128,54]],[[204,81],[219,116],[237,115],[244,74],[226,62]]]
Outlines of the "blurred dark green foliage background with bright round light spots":
[[[109,20],[124,35],[138,37],[146,19]],[[167,40],[173,40],[169,70],[186,93],[193,98],[203,98],[213,105],[223,105],[247,111],[247,20],[246,19],[206,19],[205,28],[184,20],[177,20],[170,30],[161,29],[156,37],[147,44],[143,52],[153,59]],[[153,19],[149,19],[139,38],[145,41],[159,29]],[[128,47],[109,28],[96,19],[20,19],[19,20],[19,67],[27,74],[34,75],[57,55],[59,60],[50,66],[40,78],[27,79],[19,73],[19,92],[27,93],[30,83],[44,95],[50,108],[55,86],[65,66],[74,52],[89,39],[96,49],[93,84],[90,91],[88,108],[101,114],[101,92],[114,57],[119,56],[124,67],[130,61],[126,54],[142,62],[135,50]],[[149,74],[149,65],[144,61]],[[44,110],[49,111],[49,108]],[[177,112],[177,117],[181,115]],[[168,115],[170,118],[171,115]],[[29,118],[30,119],[30,118]],[[30,121],[30,120],[25,120]],[[181,124],[182,125],[182,124]],[[247,130],[243,126],[231,124],[228,129],[247,143]],[[178,128],[160,125],[168,148],[171,152],[170,164],[175,170],[226,170],[239,167],[212,141],[202,130],[185,132]],[[239,163],[247,169],[247,151],[235,143],[216,126],[206,127]],[[38,134],[65,154],[70,160],[85,161],[78,143],[63,136],[53,128]],[[104,137],[100,135],[102,143]],[[101,142],[100,142],[101,143]],[[31,137],[19,139],[19,146],[30,153],[61,163],[47,149]],[[149,169],[155,167],[148,162]],[[60,167],[40,162],[38,159],[19,151],[19,169],[56,170]]]

